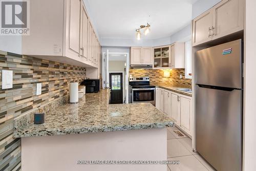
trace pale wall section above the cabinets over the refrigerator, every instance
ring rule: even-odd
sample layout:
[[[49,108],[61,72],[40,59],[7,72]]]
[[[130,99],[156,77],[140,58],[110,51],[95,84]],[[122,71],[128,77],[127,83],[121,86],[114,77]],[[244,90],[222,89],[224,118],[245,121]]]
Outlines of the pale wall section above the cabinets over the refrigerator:
[[[198,15],[202,14],[204,11],[207,11],[211,7],[215,6],[222,0],[199,0],[192,6],[192,18],[196,18]]]

